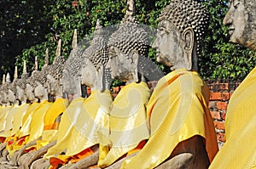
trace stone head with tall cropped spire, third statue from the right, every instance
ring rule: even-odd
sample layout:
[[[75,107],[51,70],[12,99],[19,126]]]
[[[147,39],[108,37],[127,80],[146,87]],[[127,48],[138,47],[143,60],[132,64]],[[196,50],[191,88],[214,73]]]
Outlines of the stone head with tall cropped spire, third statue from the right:
[[[128,0],[125,17],[108,41],[111,76],[126,83],[158,80],[161,71],[147,58],[148,32],[138,24],[134,15],[135,3]]]

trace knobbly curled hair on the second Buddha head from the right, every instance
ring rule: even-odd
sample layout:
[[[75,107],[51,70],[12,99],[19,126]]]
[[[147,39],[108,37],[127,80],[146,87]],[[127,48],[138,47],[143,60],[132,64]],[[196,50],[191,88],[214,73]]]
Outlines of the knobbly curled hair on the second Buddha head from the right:
[[[177,30],[183,31],[192,27],[195,31],[195,41],[197,42],[196,52],[201,52],[201,42],[204,38],[208,26],[208,12],[201,3],[194,0],[173,0],[161,12],[159,22],[162,20],[170,20],[176,25]]]

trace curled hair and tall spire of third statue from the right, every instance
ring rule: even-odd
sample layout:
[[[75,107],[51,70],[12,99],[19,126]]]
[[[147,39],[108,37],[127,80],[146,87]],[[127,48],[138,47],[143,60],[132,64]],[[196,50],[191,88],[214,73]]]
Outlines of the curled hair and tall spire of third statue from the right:
[[[139,52],[139,55],[148,56],[148,33],[142,25],[139,25],[134,14],[135,4],[133,0],[128,0],[125,17],[121,21],[119,29],[113,32],[109,38],[108,47],[117,47],[124,54],[130,54],[135,49]]]

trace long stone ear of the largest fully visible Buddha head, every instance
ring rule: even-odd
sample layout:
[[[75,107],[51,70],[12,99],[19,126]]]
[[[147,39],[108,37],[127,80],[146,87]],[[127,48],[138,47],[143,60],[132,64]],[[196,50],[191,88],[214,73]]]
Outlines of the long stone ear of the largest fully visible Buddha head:
[[[182,38],[184,40],[185,62],[187,70],[192,69],[192,52],[194,48],[194,31],[192,27],[188,27],[183,31]]]

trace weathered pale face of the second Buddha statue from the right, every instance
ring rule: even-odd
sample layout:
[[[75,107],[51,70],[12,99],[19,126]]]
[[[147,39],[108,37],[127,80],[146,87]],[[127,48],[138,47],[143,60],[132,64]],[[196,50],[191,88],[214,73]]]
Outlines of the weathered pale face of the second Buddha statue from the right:
[[[182,34],[171,21],[162,20],[158,25],[153,48],[156,50],[157,61],[170,67],[171,70],[183,67],[191,69],[191,55],[188,58],[186,56],[192,54],[194,35],[192,28],[185,31],[189,31],[191,36],[183,39]],[[189,47],[185,48],[186,43]]]

